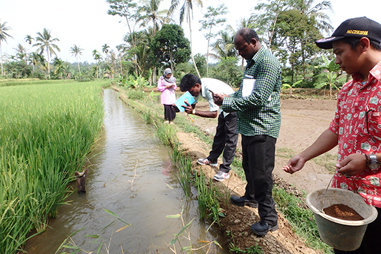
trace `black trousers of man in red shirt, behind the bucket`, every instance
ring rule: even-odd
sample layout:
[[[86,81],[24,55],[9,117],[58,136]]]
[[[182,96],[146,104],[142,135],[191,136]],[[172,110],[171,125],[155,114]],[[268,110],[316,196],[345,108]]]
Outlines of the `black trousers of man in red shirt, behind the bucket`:
[[[333,249],[336,254],[379,254],[381,253],[381,208],[376,208],[378,216],[371,224],[366,227],[364,238],[360,248],[355,251],[339,251]]]

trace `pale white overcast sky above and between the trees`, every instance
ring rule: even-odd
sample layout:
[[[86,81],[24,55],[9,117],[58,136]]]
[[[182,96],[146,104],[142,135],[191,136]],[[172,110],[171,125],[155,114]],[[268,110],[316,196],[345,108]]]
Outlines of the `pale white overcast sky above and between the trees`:
[[[181,3],[184,0],[181,0]],[[316,3],[321,2],[315,1]],[[199,20],[203,18],[206,7],[216,7],[221,3],[227,6],[228,23],[237,27],[241,18],[251,14],[257,1],[252,0],[204,0],[204,8],[193,6],[194,17],[192,21],[192,37],[194,43],[193,53],[206,53],[207,42],[203,33],[199,31]],[[379,0],[331,0],[333,12],[329,12],[335,28],[346,19],[353,17],[369,17],[381,23],[381,1]],[[170,0],[163,0],[161,9],[168,9]],[[46,28],[51,30],[53,38],[61,52],[57,56],[67,62],[76,62],[69,50],[76,44],[84,51],[80,61],[94,62],[91,51],[102,51],[104,44],[116,51],[116,45],[123,43],[123,36],[127,33],[127,25],[121,17],[107,15],[109,5],[105,0],[0,0],[0,22],[6,21],[11,28],[8,34],[8,43],[1,42],[3,55],[15,55],[17,44],[22,44],[30,51],[25,42],[26,35],[37,36]],[[178,22],[178,17],[176,18]],[[189,39],[188,24],[183,23],[184,33]],[[33,48],[35,51],[35,48]]]

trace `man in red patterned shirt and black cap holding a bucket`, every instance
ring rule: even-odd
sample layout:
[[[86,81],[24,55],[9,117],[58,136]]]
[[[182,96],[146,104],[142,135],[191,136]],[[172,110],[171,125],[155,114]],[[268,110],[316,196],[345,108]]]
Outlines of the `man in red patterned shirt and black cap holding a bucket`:
[[[283,167],[293,174],[306,161],[339,145],[332,187],[360,194],[378,210],[360,248],[335,253],[381,253],[381,25],[366,17],[344,21],[320,48],[333,48],[335,63],[352,75],[337,97],[330,127]]]

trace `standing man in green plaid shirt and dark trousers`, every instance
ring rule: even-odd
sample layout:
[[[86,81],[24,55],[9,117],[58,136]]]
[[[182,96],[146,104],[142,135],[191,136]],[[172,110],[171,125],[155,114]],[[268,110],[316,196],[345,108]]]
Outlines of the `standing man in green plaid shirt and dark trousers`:
[[[247,60],[240,89],[231,96],[216,94],[214,98],[225,112],[237,112],[237,131],[242,134],[242,167],[247,185],[244,196],[231,196],[230,200],[236,206],[258,207],[260,221],[251,225],[251,231],[266,235],[278,229],[272,171],[281,127],[281,65],[260,44],[254,30],[238,30],[234,45]]]

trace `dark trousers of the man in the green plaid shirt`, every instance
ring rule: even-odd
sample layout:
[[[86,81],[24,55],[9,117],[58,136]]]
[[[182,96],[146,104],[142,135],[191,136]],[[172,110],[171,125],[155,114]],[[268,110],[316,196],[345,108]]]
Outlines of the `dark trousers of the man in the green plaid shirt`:
[[[258,201],[260,220],[270,226],[278,222],[272,199],[275,143],[276,138],[267,135],[242,135],[242,167],[247,180],[245,196]]]

